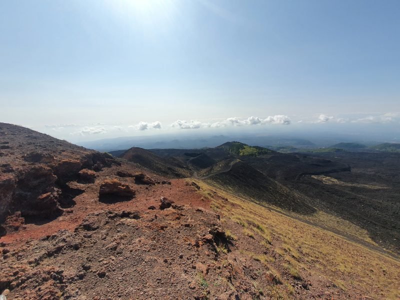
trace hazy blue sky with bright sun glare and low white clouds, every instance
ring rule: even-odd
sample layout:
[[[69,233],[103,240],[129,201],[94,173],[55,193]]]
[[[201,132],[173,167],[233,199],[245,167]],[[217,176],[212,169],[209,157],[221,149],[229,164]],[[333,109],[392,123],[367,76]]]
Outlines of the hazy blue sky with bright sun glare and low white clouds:
[[[0,121],[71,141],[396,133],[399,15],[398,0],[2,0]]]

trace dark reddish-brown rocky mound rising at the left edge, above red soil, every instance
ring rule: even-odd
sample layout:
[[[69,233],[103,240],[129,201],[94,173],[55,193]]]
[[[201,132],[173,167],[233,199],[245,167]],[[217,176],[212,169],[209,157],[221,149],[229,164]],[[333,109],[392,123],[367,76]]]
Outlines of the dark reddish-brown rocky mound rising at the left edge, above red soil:
[[[49,217],[72,203],[68,182],[94,182],[104,167],[120,164],[108,153],[73,145],[47,134],[0,123],[0,223],[20,211],[21,218]],[[69,206],[68,206],[69,207]],[[4,229],[4,228],[3,228]]]

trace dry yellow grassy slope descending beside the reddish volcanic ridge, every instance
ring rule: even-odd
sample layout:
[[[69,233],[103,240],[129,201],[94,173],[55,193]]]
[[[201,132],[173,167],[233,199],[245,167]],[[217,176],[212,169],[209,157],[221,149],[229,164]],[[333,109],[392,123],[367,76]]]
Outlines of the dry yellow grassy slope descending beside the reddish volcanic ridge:
[[[282,279],[283,284],[273,291],[274,298],[290,298],[292,290],[287,280],[296,276],[316,282],[318,278],[331,280],[352,298],[365,295],[379,299],[400,297],[399,260],[331,231],[234,196],[217,186],[196,182],[205,195],[212,195],[212,191],[216,191],[226,199],[215,198],[213,209],[221,214],[226,227],[234,221],[242,228],[240,232],[232,227],[231,234],[238,239],[242,234],[252,236],[254,242],[262,245],[264,251],[261,253],[243,251],[243,254],[260,259],[267,269]],[[332,215],[319,214],[318,217],[340,222],[341,226],[348,226],[350,232],[363,232],[361,228]]]

